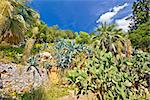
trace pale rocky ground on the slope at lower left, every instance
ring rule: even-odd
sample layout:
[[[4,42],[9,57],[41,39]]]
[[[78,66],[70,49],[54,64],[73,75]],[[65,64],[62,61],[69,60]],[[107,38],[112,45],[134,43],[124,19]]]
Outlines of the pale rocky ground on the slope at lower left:
[[[33,68],[27,71],[28,66],[4,64],[0,62],[0,97],[2,93],[24,93],[40,86],[48,79],[46,70],[40,69],[41,76]]]

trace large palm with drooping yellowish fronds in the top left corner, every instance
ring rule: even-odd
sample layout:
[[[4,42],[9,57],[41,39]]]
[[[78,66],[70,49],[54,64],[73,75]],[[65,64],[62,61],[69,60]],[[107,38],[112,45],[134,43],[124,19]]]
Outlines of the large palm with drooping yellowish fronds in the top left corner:
[[[6,41],[17,44],[23,40],[24,33],[39,15],[18,0],[1,0],[0,5],[0,43]]]

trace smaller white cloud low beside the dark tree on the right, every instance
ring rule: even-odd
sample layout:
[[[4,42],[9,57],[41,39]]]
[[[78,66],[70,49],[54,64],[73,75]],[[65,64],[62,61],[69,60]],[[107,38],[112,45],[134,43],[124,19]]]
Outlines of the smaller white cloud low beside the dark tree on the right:
[[[130,16],[130,15],[129,15]],[[115,23],[117,24],[117,28],[122,29],[124,32],[128,32],[129,25],[132,23],[130,19],[127,19],[129,16],[126,16],[122,19],[117,19]]]

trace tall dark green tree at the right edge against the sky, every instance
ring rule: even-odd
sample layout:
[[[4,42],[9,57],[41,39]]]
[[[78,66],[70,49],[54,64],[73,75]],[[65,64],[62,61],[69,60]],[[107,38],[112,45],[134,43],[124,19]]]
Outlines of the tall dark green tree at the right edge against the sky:
[[[133,23],[129,38],[135,48],[150,51],[150,5],[149,0],[137,0],[133,4]]]

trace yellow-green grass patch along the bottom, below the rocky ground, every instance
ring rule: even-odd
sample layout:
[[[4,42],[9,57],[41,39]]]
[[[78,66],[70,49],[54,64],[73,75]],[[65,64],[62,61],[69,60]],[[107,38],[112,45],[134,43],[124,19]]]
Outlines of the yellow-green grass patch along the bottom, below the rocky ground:
[[[59,85],[51,85],[20,94],[18,97],[19,100],[58,100],[58,98],[68,94],[67,90],[67,88],[62,88]]]

